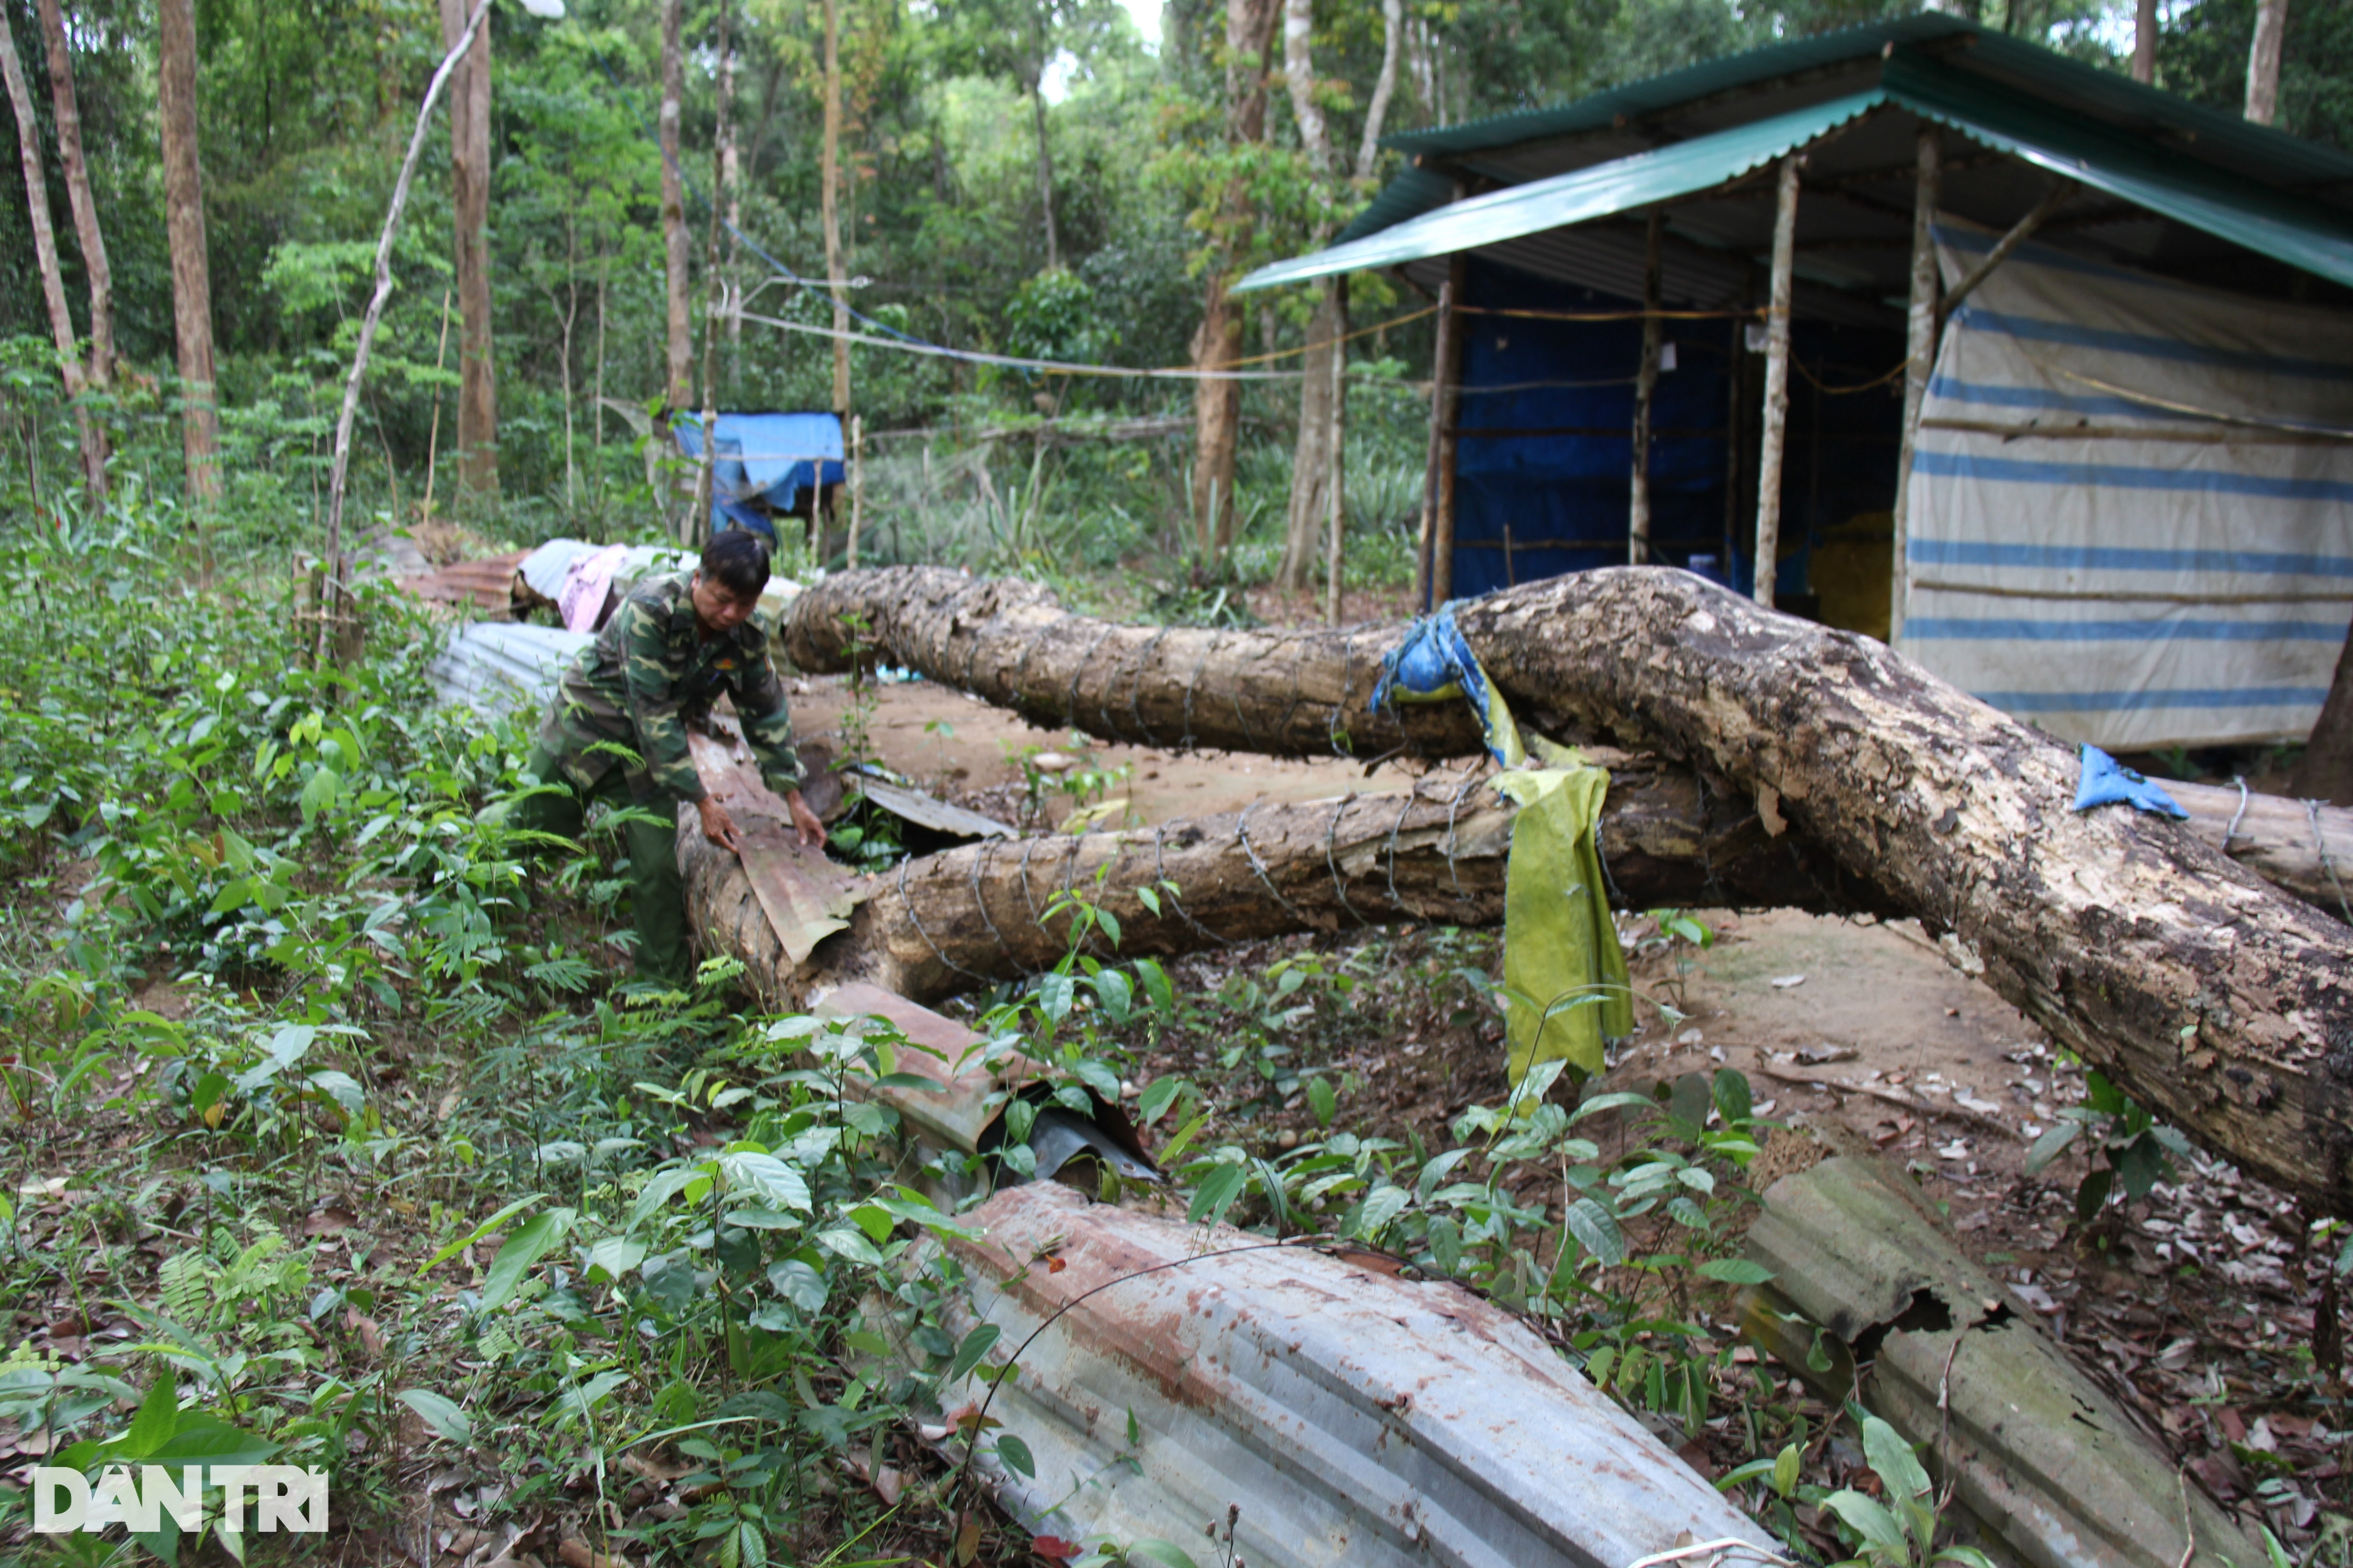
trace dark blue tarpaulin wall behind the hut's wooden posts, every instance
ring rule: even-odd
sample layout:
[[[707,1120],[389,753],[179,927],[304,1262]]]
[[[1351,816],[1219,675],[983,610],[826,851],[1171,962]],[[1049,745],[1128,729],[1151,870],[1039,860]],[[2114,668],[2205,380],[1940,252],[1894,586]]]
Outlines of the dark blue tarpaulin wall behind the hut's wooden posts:
[[[1466,301],[1464,395],[1454,421],[1454,595],[1624,564],[1640,301],[1480,259],[1471,261]],[[1475,310],[1626,313],[1626,320],[1558,322]],[[1666,322],[1661,336],[1675,348],[1675,369],[1664,371],[1652,393],[1652,557],[1748,592],[1755,407],[1741,409],[1746,473],[1727,529],[1732,355],[1741,353],[1741,322]],[[1821,383],[1857,386],[1904,357],[1904,334],[1798,322],[1791,348]],[[1755,404],[1762,386],[1765,357],[1748,355],[1741,400]],[[1828,397],[1793,369],[1777,597],[1807,590],[1809,545],[1824,529],[1894,505],[1901,393],[1897,378]]]

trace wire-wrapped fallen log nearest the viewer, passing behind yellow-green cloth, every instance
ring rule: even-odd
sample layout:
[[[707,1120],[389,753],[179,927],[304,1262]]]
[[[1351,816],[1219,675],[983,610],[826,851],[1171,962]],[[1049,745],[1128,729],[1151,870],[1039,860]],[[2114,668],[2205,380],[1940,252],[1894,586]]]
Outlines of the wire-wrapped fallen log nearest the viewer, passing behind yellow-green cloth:
[[[1875,907],[1866,884],[1793,837],[1772,837],[1748,802],[1706,792],[1689,769],[1621,755],[1605,762],[1600,839],[1614,905]],[[722,799],[739,823],[765,820],[748,790]],[[936,1001],[1052,969],[1071,945],[1071,917],[1054,912],[1066,891],[1118,919],[1120,957],[1398,922],[1492,926],[1504,919],[1513,811],[1485,773],[1457,773],[1412,792],[1252,806],[1129,832],[991,839],[873,877],[849,929],[807,961],[779,936],[779,898],[762,898],[753,875],[692,820],[680,832],[680,863],[704,940],[739,957],[765,999],[798,1006],[864,980]],[[753,860],[776,870],[758,853]]]

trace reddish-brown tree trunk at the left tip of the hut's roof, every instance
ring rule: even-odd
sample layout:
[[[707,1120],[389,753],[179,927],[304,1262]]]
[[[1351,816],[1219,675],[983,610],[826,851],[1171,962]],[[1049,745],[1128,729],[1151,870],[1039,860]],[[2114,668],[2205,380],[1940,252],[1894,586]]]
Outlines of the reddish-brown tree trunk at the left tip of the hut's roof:
[[[1226,0],[1226,143],[1266,139],[1266,49],[1273,42],[1275,0]],[[1249,226],[1249,197],[1228,186],[1217,207],[1217,249]],[[1242,346],[1242,317],[1226,294],[1226,256],[1209,266],[1207,301],[1193,334],[1193,369],[1233,369]],[[1235,381],[1205,376],[1193,383],[1193,529],[1200,567],[1214,569],[1233,543],[1233,470],[1242,428],[1242,390]]]

